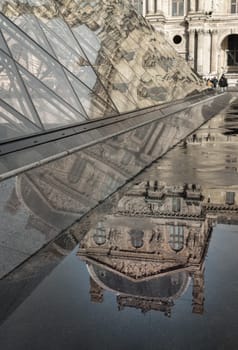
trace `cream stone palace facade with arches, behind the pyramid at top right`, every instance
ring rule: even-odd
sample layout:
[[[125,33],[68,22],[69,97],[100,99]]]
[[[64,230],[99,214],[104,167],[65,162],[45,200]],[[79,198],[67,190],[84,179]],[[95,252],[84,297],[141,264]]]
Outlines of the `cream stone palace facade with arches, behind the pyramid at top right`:
[[[237,80],[237,0],[143,0],[142,5],[142,14],[200,75],[224,72]]]

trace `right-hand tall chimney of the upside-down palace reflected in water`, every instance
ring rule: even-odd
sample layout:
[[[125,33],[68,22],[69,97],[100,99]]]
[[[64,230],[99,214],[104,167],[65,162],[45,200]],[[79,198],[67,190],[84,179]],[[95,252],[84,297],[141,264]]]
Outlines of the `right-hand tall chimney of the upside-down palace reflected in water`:
[[[204,311],[204,267],[193,274],[193,313],[203,314]]]

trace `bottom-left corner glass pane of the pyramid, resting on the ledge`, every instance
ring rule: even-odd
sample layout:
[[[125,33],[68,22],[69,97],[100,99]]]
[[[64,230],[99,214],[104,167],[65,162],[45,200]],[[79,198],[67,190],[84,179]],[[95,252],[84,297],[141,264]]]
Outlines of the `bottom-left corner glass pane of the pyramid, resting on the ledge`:
[[[38,133],[39,128],[0,100],[0,142]]]

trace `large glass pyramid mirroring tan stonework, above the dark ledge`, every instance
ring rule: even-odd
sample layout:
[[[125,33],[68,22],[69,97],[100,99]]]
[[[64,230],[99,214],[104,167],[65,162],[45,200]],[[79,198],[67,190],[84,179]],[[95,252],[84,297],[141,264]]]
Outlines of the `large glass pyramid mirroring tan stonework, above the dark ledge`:
[[[0,143],[201,88],[129,0],[1,0],[0,11]]]

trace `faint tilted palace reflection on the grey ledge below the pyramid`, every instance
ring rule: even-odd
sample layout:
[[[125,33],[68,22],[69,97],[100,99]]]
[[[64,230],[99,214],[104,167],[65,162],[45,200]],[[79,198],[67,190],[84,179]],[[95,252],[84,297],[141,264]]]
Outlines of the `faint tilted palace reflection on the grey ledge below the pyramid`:
[[[48,225],[68,226],[150,164],[163,150],[159,137],[163,135],[169,147],[177,130],[148,124],[32,169],[17,177],[7,208],[14,211],[24,203],[43,221],[35,218],[30,225],[40,230],[44,226],[46,232]]]

